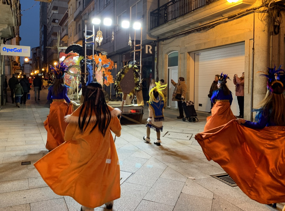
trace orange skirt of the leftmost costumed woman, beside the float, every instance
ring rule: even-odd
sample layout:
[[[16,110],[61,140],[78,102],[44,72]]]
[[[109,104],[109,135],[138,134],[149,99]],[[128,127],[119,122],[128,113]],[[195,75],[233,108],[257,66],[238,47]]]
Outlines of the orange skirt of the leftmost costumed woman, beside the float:
[[[64,99],[55,99],[50,104],[50,113],[44,122],[47,130],[47,144],[45,148],[53,150],[64,143],[64,133],[67,123],[64,122],[64,116],[72,114],[73,105],[66,103]]]

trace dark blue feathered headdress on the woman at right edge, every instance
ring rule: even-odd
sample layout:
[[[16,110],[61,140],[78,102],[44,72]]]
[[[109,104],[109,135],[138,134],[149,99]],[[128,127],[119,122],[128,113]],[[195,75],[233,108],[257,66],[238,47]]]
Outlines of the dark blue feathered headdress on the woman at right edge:
[[[279,66],[279,68],[276,70],[276,66],[274,66],[274,68],[269,68],[267,70],[267,73],[259,71],[258,73],[265,73],[265,74],[261,74],[262,76],[265,76],[266,78],[268,78],[267,80],[267,89],[270,92],[273,92],[275,94],[282,94],[284,92],[284,83],[285,83],[285,71],[280,69],[281,65]],[[273,88],[273,85],[278,83],[281,87],[283,87],[283,91],[281,92],[281,90],[279,89],[279,91],[275,90]]]

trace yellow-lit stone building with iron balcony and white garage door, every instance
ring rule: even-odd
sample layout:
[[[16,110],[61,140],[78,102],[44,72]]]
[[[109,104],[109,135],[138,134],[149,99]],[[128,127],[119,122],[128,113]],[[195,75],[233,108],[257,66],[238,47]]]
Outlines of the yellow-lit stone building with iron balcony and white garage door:
[[[149,36],[157,38],[159,78],[169,84],[168,104],[174,86],[170,80],[184,77],[187,100],[198,111],[210,111],[208,93],[216,74],[241,76],[245,72],[244,116],[265,96],[264,77],[258,71],[284,65],[284,1],[175,0],[160,1],[150,12]],[[284,68],[284,66],[283,66]],[[232,111],[238,115],[235,85]]]

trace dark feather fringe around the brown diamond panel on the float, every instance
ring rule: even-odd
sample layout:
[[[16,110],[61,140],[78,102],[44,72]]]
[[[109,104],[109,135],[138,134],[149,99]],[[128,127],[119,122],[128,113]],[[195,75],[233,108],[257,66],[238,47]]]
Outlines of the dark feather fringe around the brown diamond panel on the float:
[[[125,74],[129,71],[129,69],[132,67],[133,69],[133,74],[134,74],[134,82],[135,82],[135,87],[134,89],[129,93],[131,99],[134,97],[134,95],[141,90],[140,86],[140,69],[137,67],[137,65],[126,65],[124,66],[118,73],[117,73],[117,78],[115,79],[114,82],[114,89],[117,94],[123,93],[120,82],[124,78]]]

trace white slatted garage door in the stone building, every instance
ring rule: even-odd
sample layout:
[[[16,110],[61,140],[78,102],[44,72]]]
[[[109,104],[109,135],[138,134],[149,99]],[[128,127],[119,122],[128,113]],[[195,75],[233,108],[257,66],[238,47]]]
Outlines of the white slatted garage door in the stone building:
[[[245,45],[227,45],[221,48],[199,51],[195,53],[195,86],[194,100],[195,109],[198,111],[210,111],[211,104],[208,98],[211,84],[216,74],[228,74],[227,86],[233,94],[232,112],[239,115],[238,100],[235,96],[235,85],[233,76],[238,74],[240,77],[244,72],[245,65]]]

